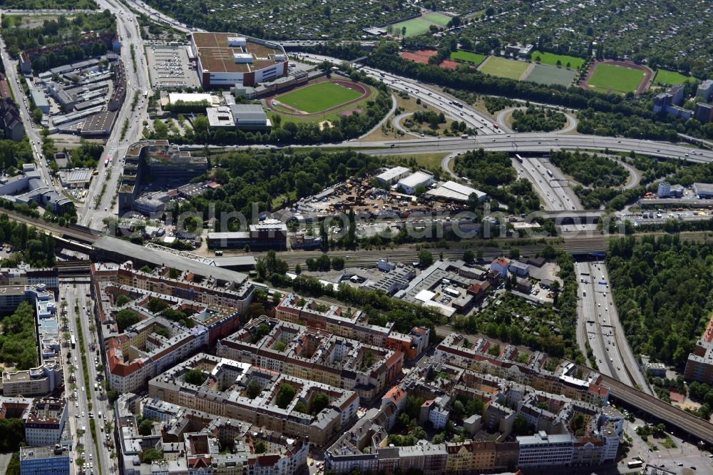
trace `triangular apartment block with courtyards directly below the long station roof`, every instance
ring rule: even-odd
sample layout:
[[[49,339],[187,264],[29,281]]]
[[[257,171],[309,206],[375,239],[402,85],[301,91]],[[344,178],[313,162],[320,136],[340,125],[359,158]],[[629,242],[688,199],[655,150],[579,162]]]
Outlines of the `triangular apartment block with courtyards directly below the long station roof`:
[[[218,285],[189,270],[168,267],[143,272],[125,262],[93,264],[92,290],[98,320],[111,335],[103,341],[109,383],[118,392],[135,392],[165,369],[235,332],[240,313],[252,301],[253,287],[245,281]],[[125,310],[140,320],[119,333],[116,315]]]

